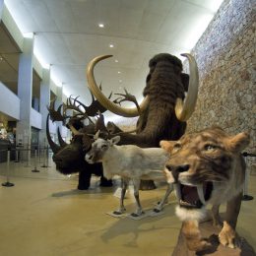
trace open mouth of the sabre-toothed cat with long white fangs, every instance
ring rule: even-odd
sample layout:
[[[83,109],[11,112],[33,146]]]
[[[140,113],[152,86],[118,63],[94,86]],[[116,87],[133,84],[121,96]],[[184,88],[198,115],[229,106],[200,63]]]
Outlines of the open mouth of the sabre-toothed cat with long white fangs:
[[[174,189],[180,207],[188,209],[199,209],[206,205],[206,201],[211,197],[213,188],[213,182],[204,182],[196,186],[174,183]]]

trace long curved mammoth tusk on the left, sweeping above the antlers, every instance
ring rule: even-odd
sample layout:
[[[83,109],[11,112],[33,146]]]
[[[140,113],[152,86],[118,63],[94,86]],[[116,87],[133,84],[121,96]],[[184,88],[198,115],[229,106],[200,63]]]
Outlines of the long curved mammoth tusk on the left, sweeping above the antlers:
[[[87,80],[89,84],[90,91],[96,96],[96,99],[102,104],[106,109],[110,110],[111,112],[124,116],[124,117],[135,117],[139,115],[137,107],[133,108],[125,108],[121,107],[112,101],[110,101],[106,96],[104,96],[101,91],[98,89],[96,85],[96,79],[94,75],[94,69],[96,63],[100,60],[112,57],[112,55],[101,55],[94,58],[87,67]],[[146,96],[142,103],[140,104],[140,109],[143,112],[149,103],[149,98]]]

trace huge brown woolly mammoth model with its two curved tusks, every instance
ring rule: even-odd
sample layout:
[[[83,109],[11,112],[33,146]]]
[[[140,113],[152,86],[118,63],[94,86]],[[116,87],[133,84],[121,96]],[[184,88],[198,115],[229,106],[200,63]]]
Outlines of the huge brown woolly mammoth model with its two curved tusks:
[[[194,58],[190,54],[183,54],[189,62],[189,77],[182,73],[182,63],[177,57],[168,53],[153,57],[149,63],[150,72],[143,92],[144,100],[135,108],[124,108],[110,101],[96,85],[96,63],[110,56],[103,55],[93,59],[88,65],[87,77],[90,91],[106,109],[124,117],[140,115],[137,134],[121,134],[119,144],[150,148],[159,147],[160,140],[179,139],[185,132],[186,120],[194,111],[197,99],[198,69]],[[126,94],[124,99],[129,100],[129,95]],[[108,124],[109,126],[113,125]],[[141,184],[141,189],[154,187],[153,182],[145,181]]]

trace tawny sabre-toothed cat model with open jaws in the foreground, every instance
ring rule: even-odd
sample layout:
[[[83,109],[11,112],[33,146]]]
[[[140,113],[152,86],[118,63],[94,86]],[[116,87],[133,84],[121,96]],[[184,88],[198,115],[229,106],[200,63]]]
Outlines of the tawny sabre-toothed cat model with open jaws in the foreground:
[[[179,203],[176,214],[184,222],[183,233],[191,250],[209,246],[197,230],[207,204],[213,205],[214,224],[220,224],[219,207],[227,203],[219,239],[223,245],[235,247],[235,225],[245,175],[241,151],[248,144],[246,133],[229,136],[221,128],[187,134],[179,141],[160,142],[170,153],[164,172],[167,181],[176,186]]]

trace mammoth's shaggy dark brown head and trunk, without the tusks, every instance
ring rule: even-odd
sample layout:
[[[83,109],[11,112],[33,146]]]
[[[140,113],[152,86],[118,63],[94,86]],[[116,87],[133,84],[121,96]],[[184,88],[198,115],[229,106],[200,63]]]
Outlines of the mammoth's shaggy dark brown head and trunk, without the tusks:
[[[188,75],[182,73],[181,61],[168,53],[160,53],[149,63],[144,96],[150,97],[148,109],[137,123],[137,135],[121,135],[120,144],[140,147],[159,147],[160,140],[177,140],[186,123],[177,120],[174,105],[177,97],[184,98],[188,89]]]

